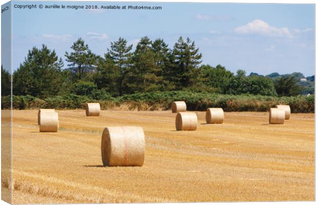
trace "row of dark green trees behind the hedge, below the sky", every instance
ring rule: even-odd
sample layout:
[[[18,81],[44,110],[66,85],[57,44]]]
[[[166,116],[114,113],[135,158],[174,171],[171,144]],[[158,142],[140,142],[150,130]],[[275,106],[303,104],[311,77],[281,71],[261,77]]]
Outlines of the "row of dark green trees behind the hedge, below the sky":
[[[164,39],[142,37],[136,48],[120,37],[111,42],[104,56],[94,54],[82,38],[65,53],[43,45],[28,51],[23,63],[13,72],[13,95],[46,98],[76,94],[122,96],[154,91],[193,91],[221,94],[292,96],[301,91],[293,76],[272,80],[266,76],[236,74],[222,65],[202,65],[202,54],[189,38],[178,38],[173,48]],[[9,95],[10,75],[2,67],[2,93]]]

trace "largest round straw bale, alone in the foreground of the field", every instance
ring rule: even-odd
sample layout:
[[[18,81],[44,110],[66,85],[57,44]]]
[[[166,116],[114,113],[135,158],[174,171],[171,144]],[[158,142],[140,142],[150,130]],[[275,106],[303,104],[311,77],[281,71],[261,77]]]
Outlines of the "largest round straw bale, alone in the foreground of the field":
[[[143,166],[145,134],[141,127],[106,127],[102,135],[104,166]]]

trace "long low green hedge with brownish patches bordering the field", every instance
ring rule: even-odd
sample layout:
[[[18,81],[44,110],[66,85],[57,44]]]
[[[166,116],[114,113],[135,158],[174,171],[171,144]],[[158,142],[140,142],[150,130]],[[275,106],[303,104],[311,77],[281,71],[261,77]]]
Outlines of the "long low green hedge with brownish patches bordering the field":
[[[2,96],[2,108],[10,108],[10,96]],[[128,105],[138,110],[168,110],[173,101],[183,100],[188,110],[205,111],[207,108],[223,108],[224,111],[259,111],[265,112],[278,104],[289,105],[293,113],[314,113],[314,95],[277,97],[262,95],[224,95],[216,93],[194,93],[190,91],[167,91],[135,93],[120,97],[111,97],[106,92],[92,92],[85,95],[68,94],[38,99],[30,95],[12,96],[13,109],[84,109],[88,102],[100,103],[102,109]]]

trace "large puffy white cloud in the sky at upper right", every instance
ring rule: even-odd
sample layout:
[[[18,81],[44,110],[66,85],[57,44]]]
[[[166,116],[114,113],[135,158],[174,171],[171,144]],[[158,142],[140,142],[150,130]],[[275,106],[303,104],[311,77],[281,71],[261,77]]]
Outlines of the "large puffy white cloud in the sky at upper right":
[[[287,36],[287,37],[292,36],[288,28],[273,27],[261,19],[255,19],[246,25],[239,26],[235,28],[234,31],[240,34],[260,34],[260,35],[266,35],[266,36]]]

